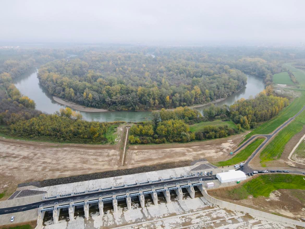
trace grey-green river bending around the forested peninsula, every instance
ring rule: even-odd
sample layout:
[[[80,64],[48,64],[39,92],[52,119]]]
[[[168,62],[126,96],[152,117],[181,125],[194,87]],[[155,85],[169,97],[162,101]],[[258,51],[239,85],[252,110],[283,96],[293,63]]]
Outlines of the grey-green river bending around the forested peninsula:
[[[216,106],[222,104],[231,105],[234,101],[241,98],[249,98],[249,96],[255,96],[261,92],[265,85],[261,78],[247,75],[248,81],[245,88],[237,93],[232,94],[225,100],[215,103]],[[20,77],[14,80],[14,84],[20,90],[23,95],[26,95],[33,99],[36,103],[36,109],[52,114],[55,111],[59,111],[60,108],[66,106],[57,103],[53,100],[52,95],[48,93],[40,84],[37,78],[37,70],[32,70],[24,73]],[[197,107],[200,112],[205,108]],[[79,111],[83,118],[88,121],[99,122],[113,122],[113,121],[125,121],[125,122],[141,122],[150,119],[150,111],[106,111],[106,112],[86,112]]]

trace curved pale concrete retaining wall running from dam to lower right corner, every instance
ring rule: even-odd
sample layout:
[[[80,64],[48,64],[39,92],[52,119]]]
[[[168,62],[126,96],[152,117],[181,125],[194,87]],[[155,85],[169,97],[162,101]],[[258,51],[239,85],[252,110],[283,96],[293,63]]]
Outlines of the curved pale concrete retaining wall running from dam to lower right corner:
[[[233,204],[230,202],[226,202],[223,200],[218,200],[216,198],[211,197],[206,189],[204,189],[202,191],[203,197],[206,198],[207,201],[211,202],[212,204],[218,205],[221,208],[227,208],[227,209],[231,209],[231,210],[236,210],[239,212],[245,212],[245,213],[249,213],[251,216],[255,216],[258,218],[265,218],[268,221],[277,221],[277,222],[281,222],[281,223],[287,223],[287,224],[292,224],[292,225],[297,225],[297,226],[301,226],[301,227],[305,227],[305,223],[301,222],[301,221],[297,221],[297,220],[292,220],[292,219],[288,219],[282,216],[277,216],[274,214],[270,214],[270,213],[266,213],[266,212],[262,212],[256,209],[252,209],[252,208],[248,208],[248,207],[244,207],[241,205],[237,205],[237,204]]]

